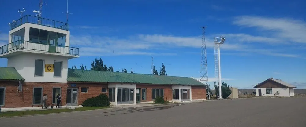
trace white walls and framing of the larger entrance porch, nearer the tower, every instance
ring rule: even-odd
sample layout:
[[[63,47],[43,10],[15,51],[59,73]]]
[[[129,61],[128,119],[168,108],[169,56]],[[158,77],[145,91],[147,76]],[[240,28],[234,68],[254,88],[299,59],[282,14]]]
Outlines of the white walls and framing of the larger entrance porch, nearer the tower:
[[[121,83],[110,83],[108,84],[109,88],[116,88],[116,92],[115,92],[115,102],[110,102],[112,105],[116,106],[116,105],[133,105],[136,104],[136,84],[121,84]],[[118,88],[134,88],[134,103],[132,104],[117,104],[117,91]]]

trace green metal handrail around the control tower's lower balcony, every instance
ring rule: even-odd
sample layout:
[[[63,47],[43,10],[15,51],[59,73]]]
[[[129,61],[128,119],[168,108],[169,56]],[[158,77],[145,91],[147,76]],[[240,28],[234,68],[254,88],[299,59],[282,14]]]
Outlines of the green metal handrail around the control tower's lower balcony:
[[[51,53],[64,53],[73,56],[79,56],[79,48],[54,45],[40,42],[30,42],[24,40],[18,40],[0,47],[0,55],[8,53],[13,50],[34,50],[34,51],[46,51]]]

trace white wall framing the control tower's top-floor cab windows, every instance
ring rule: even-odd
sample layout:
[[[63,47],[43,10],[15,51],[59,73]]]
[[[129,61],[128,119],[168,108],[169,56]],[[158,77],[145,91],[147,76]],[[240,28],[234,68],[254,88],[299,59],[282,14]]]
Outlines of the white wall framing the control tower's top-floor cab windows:
[[[46,30],[46,31],[52,31],[52,32],[57,32],[57,33],[62,33],[62,34],[67,34],[66,36],[66,45],[65,46],[69,46],[70,45],[70,31],[66,31],[66,30],[62,30],[62,29],[57,29],[57,28],[53,28],[53,27],[47,27],[47,26],[42,26],[42,25],[38,25],[38,24],[31,24],[31,23],[25,23],[22,24],[21,26],[18,26],[17,28],[9,31],[9,43],[12,43],[11,41],[11,34],[24,28],[25,27],[25,33],[24,33],[24,40],[25,41],[29,41],[29,33],[30,33],[30,27],[32,28],[36,28],[36,29],[42,29],[42,30]]]

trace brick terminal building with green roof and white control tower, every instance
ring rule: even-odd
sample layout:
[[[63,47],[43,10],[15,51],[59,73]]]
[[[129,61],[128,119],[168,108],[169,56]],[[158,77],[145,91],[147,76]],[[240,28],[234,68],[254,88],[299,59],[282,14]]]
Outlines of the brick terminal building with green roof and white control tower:
[[[68,24],[26,15],[10,24],[9,42],[0,45],[0,106],[2,110],[47,106],[81,106],[89,97],[105,93],[112,106],[152,103],[157,96],[172,102],[206,100],[206,85],[197,79],[152,74],[69,69],[79,57],[69,46]]]

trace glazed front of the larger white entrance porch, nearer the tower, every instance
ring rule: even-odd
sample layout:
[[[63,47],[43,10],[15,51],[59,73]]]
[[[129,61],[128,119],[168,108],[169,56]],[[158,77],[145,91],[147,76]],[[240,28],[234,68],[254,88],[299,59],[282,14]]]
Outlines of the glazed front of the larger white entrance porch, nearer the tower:
[[[118,88],[117,104],[134,103],[134,88]]]

